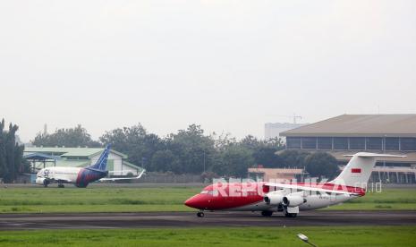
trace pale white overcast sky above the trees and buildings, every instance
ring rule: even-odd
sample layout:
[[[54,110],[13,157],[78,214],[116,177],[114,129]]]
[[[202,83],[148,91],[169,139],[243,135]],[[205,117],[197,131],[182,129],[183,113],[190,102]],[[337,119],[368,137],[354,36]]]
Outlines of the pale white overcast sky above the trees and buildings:
[[[416,1],[0,0],[0,86],[23,141],[416,113]]]

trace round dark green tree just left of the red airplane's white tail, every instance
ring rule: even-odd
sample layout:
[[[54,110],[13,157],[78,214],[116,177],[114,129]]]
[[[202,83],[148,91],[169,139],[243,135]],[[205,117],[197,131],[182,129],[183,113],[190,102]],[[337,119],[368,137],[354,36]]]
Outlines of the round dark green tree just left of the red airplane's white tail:
[[[325,152],[316,152],[305,158],[306,171],[311,176],[324,176],[332,179],[339,173],[336,158]]]

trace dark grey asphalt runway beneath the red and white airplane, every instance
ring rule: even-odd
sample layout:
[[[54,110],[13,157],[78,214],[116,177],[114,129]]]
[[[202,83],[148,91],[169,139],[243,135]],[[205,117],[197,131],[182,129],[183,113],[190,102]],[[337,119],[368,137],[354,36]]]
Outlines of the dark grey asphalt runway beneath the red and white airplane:
[[[306,211],[295,218],[259,212],[206,212],[202,218],[190,212],[0,215],[0,230],[208,226],[416,226],[416,211]]]

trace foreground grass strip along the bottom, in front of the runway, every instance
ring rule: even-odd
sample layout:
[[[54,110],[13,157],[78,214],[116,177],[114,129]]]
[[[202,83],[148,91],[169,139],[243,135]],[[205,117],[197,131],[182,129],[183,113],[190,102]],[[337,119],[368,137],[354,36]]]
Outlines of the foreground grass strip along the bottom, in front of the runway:
[[[416,226],[100,229],[0,232],[1,246],[416,246]]]

